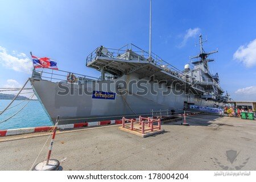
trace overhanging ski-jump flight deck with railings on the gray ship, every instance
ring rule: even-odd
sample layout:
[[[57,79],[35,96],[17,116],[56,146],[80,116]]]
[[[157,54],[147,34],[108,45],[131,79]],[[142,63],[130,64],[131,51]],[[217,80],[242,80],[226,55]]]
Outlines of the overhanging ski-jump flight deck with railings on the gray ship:
[[[154,53],[149,53],[134,44],[127,44],[120,49],[105,48],[99,46],[86,58],[86,66],[101,71],[101,79],[105,79],[105,72],[114,78],[122,75],[137,73],[139,79],[154,75],[158,81],[167,81],[167,86],[179,83],[180,89],[188,89],[194,94],[203,94],[204,88],[193,83],[193,79],[185,75],[183,71],[163,61]]]

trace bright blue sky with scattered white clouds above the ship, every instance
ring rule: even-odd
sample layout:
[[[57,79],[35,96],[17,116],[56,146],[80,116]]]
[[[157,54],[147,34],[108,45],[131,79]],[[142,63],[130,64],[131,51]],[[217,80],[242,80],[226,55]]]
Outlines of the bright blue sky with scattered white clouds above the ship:
[[[256,100],[256,1],[152,0],[152,52],[183,69],[202,34],[209,63],[234,100]],[[0,87],[31,76],[30,52],[60,70],[98,77],[85,66],[97,46],[148,50],[149,0],[0,0]]]

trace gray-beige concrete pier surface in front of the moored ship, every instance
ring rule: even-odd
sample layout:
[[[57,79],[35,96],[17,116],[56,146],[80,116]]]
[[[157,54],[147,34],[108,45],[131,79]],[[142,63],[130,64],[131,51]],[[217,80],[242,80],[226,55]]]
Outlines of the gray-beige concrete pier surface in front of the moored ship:
[[[195,115],[187,117],[188,127],[180,122],[163,124],[165,133],[147,138],[122,132],[118,125],[59,132],[52,158],[63,170],[222,170],[221,164],[236,170],[244,162],[241,170],[256,170],[256,121]],[[47,137],[2,137],[0,170],[30,170]],[[47,150],[48,145],[38,162]],[[229,150],[238,153],[233,163]]]

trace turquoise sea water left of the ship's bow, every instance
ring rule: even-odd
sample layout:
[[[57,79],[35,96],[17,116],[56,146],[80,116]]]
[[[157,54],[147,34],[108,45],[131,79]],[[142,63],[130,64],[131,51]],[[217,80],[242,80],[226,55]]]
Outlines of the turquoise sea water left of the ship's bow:
[[[13,116],[27,103],[27,100],[22,101],[23,100],[15,100],[10,107],[13,107],[19,103],[20,104],[16,107],[8,109],[2,115],[0,115],[0,130],[52,125],[50,118],[38,100],[31,100],[26,107],[22,109],[22,111],[10,118],[10,120],[2,122],[3,120],[6,120],[6,118]],[[11,100],[0,100],[0,112],[3,111],[3,109],[5,109],[10,102]]]

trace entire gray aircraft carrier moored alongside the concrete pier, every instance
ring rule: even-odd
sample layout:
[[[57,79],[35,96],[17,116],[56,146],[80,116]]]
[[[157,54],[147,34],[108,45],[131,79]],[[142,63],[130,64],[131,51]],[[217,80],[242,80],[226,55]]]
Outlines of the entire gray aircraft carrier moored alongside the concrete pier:
[[[222,107],[224,91],[218,75],[210,74],[208,67],[211,60],[207,57],[214,52],[204,52],[201,36],[200,46],[200,54],[193,57],[199,58],[192,62],[193,69],[185,65],[179,70],[133,44],[120,49],[99,46],[86,58],[87,67],[100,71],[99,78],[46,69],[34,70],[30,81],[52,121],[60,116],[65,124],[145,116],[152,110],[178,113],[189,104]],[[147,92],[138,94],[142,87],[130,87],[129,83],[142,81]],[[65,93],[64,88],[72,90]]]

